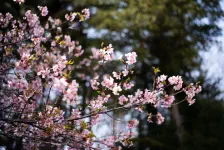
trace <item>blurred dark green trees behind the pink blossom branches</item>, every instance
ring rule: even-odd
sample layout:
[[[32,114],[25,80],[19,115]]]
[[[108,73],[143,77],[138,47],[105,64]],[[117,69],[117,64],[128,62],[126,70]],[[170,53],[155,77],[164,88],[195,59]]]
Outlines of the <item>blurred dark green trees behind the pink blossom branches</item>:
[[[151,88],[152,66],[167,75],[182,75],[185,82],[200,81],[202,93],[194,105],[176,105],[163,114],[161,126],[140,119],[134,146],[139,150],[223,150],[224,105],[220,80],[211,82],[202,69],[203,51],[219,44],[223,36],[217,23],[223,19],[221,0],[27,0],[18,5],[1,0],[0,12],[13,15],[48,6],[51,16],[63,18],[68,11],[89,8],[91,18],[73,25],[73,39],[88,49],[112,43],[116,51],[136,51],[136,88]],[[213,67],[213,66],[210,66]],[[180,98],[181,99],[181,96]],[[157,111],[150,106],[147,111]],[[6,141],[0,140],[0,145]],[[10,144],[9,144],[10,145]],[[10,146],[8,146],[10,148]],[[12,147],[11,147],[12,148]],[[17,147],[19,149],[19,147]],[[125,149],[125,148],[124,148]]]

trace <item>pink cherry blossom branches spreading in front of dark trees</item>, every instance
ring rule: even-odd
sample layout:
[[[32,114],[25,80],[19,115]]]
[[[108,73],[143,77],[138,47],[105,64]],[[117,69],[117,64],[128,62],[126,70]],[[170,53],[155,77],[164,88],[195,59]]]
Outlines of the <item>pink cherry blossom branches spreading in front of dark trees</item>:
[[[67,13],[64,20],[49,16],[44,25],[40,17],[47,17],[48,9],[38,9],[40,16],[28,10],[23,19],[0,13],[0,27],[7,28],[0,33],[4,57],[0,79],[5,81],[0,87],[0,135],[22,138],[24,149],[46,144],[70,149],[112,149],[118,141],[130,146],[135,136],[131,129],[138,125],[136,119],[125,121],[125,131],[120,129],[119,134],[107,137],[98,137],[92,127],[111,112],[128,113],[126,110],[131,108],[147,114],[149,123],[155,120],[162,124],[162,114],[146,113],[145,105],[171,107],[180,92],[186,94],[189,105],[195,102],[201,86],[183,86],[181,76],[160,75],[155,79],[155,88],[134,92],[130,76],[133,65],[138,63],[136,52],[117,59],[112,44],[84,51],[78,41],[64,35],[61,25],[70,25],[76,17],[79,21],[88,19],[89,9]],[[105,73],[111,61],[120,62],[120,69]],[[168,87],[173,93],[167,92]]]

